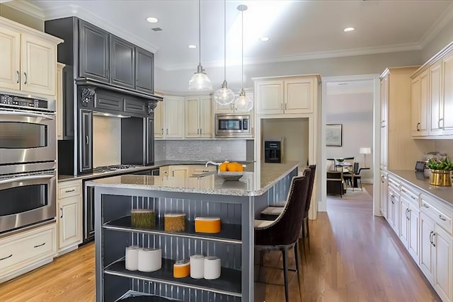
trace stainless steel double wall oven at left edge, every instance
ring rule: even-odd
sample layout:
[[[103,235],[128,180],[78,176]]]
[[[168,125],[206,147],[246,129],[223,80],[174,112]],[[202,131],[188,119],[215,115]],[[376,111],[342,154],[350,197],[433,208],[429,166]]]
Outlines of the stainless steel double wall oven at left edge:
[[[0,92],[0,233],[55,219],[55,100]]]

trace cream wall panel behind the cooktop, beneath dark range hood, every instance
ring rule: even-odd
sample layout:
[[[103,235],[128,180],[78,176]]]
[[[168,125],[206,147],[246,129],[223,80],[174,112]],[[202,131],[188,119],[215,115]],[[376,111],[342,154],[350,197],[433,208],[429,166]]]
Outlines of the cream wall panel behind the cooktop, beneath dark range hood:
[[[93,116],[93,167],[121,163],[121,119]]]

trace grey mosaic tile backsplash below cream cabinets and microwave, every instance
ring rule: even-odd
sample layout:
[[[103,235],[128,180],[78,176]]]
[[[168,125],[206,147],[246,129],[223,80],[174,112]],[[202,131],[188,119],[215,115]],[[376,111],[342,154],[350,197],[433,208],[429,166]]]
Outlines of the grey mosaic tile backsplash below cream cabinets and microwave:
[[[250,161],[245,139],[155,141],[156,161]],[[253,144],[252,144],[253,146]],[[251,152],[253,154],[253,151]]]

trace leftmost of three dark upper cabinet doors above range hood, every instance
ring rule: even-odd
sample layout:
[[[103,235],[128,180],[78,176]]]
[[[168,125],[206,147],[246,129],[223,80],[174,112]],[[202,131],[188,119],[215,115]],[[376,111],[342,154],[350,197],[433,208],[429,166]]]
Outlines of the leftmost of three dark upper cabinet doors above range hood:
[[[109,81],[108,33],[79,20],[79,76]]]

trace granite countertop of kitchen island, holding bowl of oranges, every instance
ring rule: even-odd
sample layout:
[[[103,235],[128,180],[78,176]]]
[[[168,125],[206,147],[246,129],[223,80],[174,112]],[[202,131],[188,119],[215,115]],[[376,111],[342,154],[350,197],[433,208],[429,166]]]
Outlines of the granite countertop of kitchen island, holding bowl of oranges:
[[[261,163],[260,185],[255,186],[255,173],[248,168],[243,176],[237,181],[227,181],[216,173],[196,177],[171,177],[165,175],[117,175],[110,178],[100,178],[87,182],[87,185],[95,187],[119,187],[127,189],[158,190],[166,192],[190,192],[198,194],[219,194],[231,196],[259,196],[266,192],[269,187],[282,179],[290,171],[297,168],[299,162],[287,163]],[[202,180],[197,182],[196,180]],[[181,182],[185,185],[181,186]],[[258,189],[256,187],[259,187]]]

